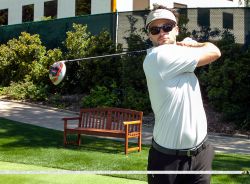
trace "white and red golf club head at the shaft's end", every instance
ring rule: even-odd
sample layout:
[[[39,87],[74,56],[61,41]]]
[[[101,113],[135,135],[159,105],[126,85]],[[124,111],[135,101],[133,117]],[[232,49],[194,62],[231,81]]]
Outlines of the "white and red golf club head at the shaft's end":
[[[49,78],[54,85],[58,85],[66,74],[65,61],[58,61],[50,66]]]

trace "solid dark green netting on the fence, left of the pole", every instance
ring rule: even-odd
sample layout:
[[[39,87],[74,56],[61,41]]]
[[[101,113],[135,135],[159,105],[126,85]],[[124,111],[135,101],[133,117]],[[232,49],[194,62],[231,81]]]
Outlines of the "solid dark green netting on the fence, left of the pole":
[[[108,13],[1,26],[0,43],[7,43],[8,40],[17,38],[21,32],[28,32],[39,34],[42,43],[47,48],[61,47],[62,41],[66,38],[66,32],[72,29],[73,23],[87,24],[88,30],[93,35],[100,33],[102,30],[107,30],[114,38],[115,18],[115,14]]]

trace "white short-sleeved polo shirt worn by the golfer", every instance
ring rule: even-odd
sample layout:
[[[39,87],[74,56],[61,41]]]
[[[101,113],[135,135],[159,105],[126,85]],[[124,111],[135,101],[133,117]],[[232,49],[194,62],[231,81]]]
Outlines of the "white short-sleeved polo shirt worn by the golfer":
[[[161,45],[148,50],[143,63],[155,114],[153,137],[169,149],[188,149],[207,135],[207,120],[194,70],[200,49]]]

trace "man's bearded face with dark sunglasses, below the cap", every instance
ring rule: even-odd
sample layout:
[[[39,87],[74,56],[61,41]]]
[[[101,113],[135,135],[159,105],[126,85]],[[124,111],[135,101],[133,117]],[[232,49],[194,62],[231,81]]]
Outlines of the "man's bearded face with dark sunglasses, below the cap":
[[[175,44],[178,35],[178,27],[173,21],[166,19],[154,20],[149,25],[149,39],[154,46],[163,44]]]

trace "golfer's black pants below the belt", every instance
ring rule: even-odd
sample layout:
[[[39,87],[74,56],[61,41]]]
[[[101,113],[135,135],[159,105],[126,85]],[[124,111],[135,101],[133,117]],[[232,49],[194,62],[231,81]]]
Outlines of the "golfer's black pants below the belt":
[[[153,147],[148,156],[148,171],[211,171],[214,150],[211,144],[195,156],[166,155]],[[149,174],[149,184],[209,184],[209,174]]]

